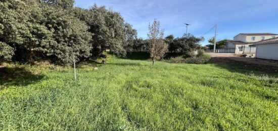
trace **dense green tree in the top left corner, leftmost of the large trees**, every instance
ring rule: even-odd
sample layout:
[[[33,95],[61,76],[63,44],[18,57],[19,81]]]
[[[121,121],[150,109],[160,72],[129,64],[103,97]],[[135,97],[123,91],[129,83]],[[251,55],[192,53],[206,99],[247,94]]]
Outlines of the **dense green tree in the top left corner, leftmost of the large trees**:
[[[16,56],[33,63],[35,53],[47,53],[52,39],[52,32],[42,23],[38,1],[4,1],[0,5],[4,31],[0,40],[15,47]]]

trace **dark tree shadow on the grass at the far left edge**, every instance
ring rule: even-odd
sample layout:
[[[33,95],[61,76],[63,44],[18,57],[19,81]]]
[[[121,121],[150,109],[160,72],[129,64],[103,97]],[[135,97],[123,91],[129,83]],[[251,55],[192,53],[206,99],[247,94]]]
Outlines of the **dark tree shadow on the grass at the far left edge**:
[[[0,85],[17,86],[36,83],[44,78],[44,75],[33,74],[24,67],[0,68]],[[0,89],[1,90],[1,89]]]

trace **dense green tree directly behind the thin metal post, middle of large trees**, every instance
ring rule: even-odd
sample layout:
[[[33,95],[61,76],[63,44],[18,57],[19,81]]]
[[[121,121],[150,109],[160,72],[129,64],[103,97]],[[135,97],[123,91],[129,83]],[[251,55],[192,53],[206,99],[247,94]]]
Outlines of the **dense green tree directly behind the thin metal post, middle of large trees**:
[[[58,59],[60,64],[70,64],[90,57],[91,33],[85,22],[75,17],[73,10],[64,10],[55,6],[45,7],[47,21],[45,25],[53,30],[53,42],[48,55]]]

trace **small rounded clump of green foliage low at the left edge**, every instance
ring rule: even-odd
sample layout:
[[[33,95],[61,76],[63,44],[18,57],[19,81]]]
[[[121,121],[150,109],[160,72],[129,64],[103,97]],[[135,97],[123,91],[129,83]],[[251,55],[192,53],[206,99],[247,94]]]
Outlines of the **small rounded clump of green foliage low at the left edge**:
[[[4,42],[0,42],[0,64],[9,61],[14,55],[14,49]]]

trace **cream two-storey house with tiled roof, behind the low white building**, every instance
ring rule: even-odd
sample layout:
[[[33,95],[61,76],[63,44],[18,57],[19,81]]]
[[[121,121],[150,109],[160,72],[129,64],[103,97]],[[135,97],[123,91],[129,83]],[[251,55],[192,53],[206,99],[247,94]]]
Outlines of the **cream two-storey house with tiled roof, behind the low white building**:
[[[235,49],[235,54],[255,54],[258,42],[265,39],[278,37],[274,33],[240,33],[234,37],[234,40],[227,40],[226,47]]]

